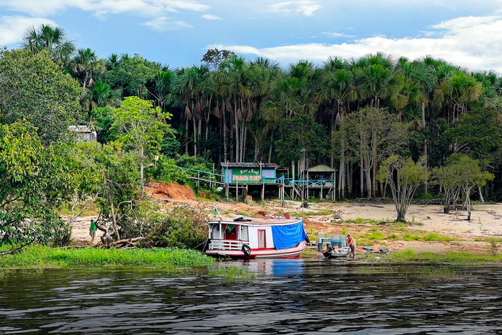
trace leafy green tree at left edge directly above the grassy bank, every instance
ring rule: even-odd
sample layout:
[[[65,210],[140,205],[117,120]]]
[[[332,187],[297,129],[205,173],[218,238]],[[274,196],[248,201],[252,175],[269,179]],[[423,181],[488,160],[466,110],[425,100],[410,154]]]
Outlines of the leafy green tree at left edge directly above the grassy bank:
[[[0,125],[0,239],[47,244],[66,235],[57,210],[94,191],[99,176],[69,146],[43,146],[29,122]]]

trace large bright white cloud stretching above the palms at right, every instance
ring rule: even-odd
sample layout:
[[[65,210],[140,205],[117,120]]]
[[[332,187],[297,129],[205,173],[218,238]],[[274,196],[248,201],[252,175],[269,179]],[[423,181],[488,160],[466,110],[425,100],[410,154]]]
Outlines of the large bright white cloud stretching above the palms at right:
[[[471,70],[496,70],[502,73],[502,15],[459,17],[432,27],[436,37],[403,37],[391,39],[374,36],[341,44],[293,44],[270,48],[217,45],[209,48],[228,49],[246,55],[257,55],[285,64],[298,59],[324,61],[330,56],[362,57],[369,53],[385,52],[394,57],[410,59],[432,55]]]

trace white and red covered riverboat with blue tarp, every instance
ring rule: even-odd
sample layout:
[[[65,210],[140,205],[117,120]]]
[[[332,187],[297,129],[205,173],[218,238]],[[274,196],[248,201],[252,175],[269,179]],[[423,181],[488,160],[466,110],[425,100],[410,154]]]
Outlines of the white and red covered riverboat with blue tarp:
[[[203,253],[232,258],[297,257],[307,247],[303,219],[275,216],[212,220]]]

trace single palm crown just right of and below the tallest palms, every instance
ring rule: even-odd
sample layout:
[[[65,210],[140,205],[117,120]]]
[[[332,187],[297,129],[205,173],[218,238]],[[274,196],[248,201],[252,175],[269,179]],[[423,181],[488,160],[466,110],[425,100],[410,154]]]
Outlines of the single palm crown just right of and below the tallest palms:
[[[90,48],[77,50],[77,55],[73,57],[69,67],[70,72],[79,79],[83,88],[92,86],[95,77],[103,73],[105,69],[96,52]]]

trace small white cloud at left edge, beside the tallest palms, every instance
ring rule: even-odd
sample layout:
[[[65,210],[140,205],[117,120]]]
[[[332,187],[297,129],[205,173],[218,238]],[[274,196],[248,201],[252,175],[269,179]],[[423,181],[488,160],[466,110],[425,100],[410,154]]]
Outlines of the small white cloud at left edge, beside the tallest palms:
[[[19,43],[28,27],[36,27],[41,24],[57,26],[56,22],[41,17],[21,17],[19,15],[0,17],[0,46]]]

